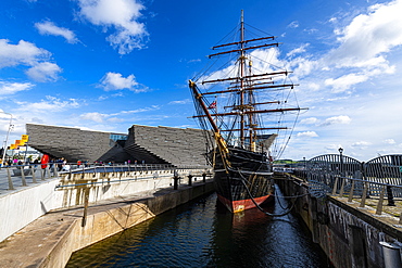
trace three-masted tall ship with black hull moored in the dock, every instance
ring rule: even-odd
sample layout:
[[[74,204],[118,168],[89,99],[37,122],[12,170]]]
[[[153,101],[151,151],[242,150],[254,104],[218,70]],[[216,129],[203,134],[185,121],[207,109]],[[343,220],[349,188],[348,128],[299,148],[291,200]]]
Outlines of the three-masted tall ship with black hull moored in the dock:
[[[260,206],[272,196],[271,148],[280,131],[292,128],[285,115],[302,110],[289,103],[289,92],[298,86],[289,78],[291,72],[266,61],[277,51],[276,37],[248,34],[241,11],[236,39],[214,46],[209,55],[215,60],[212,66],[219,67],[209,67],[189,80],[193,117],[211,133],[205,135],[211,149],[206,156],[217,197],[233,213]]]

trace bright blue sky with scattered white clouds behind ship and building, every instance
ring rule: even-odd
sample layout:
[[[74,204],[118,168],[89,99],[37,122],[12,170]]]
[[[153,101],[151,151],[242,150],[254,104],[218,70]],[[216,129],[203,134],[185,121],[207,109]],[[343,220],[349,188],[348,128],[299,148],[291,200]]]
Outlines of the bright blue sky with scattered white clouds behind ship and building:
[[[187,80],[241,10],[247,24],[278,37],[273,60],[293,71],[299,104],[310,109],[282,158],[339,146],[360,161],[402,152],[401,0],[0,0],[10,141],[26,123],[197,128]],[[9,120],[0,113],[1,141]]]

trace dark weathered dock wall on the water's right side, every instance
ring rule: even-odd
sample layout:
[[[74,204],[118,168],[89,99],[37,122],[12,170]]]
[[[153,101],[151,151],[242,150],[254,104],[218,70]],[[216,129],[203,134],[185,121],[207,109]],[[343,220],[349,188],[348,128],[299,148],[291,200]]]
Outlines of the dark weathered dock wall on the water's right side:
[[[376,216],[370,207],[359,208],[359,202],[347,197],[316,199],[309,193],[307,183],[288,176],[277,180],[285,195],[302,195],[294,212],[309,227],[313,241],[324,250],[335,267],[386,267],[380,242],[402,245],[402,229],[398,218]]]

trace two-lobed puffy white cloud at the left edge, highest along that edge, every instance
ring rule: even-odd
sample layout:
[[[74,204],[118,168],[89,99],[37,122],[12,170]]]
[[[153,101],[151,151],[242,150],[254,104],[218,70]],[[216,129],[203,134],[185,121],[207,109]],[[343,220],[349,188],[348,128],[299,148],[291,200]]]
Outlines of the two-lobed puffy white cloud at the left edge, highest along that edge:
[[[36,81],[56,80],[62,69],[55,63],[49,62],[49,51],[24,40],[17,44],[9,42],[7,39],[0,39],[0,68],[25,65],[30,67],[25,73]]]

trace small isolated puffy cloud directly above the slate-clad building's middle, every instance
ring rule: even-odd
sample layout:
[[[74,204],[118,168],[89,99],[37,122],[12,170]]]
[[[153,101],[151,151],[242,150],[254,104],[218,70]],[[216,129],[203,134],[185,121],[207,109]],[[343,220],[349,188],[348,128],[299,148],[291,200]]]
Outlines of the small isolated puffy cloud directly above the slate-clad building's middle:
[[[105,74],[100,81],[100,87],[105,91],[122,89],[129,89],[136,92],[143,91],[138,88],[136,89],[137,86],[139,86],[139,84],[136,81],[136,77],[134,75],[129,75],[125,78],[122,74],[112,72]]]

